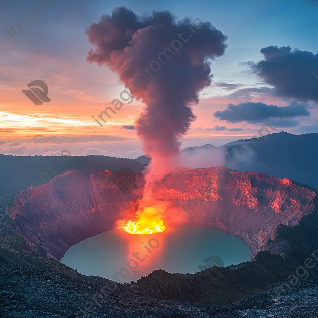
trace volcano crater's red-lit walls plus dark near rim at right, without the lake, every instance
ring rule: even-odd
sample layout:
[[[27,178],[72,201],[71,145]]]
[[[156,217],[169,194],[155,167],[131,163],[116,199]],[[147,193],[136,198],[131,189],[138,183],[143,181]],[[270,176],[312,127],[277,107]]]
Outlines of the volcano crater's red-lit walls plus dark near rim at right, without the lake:
[[[137,189],[128,193],[111,181],[114,176],[110,171],[66,171],[29,188],[29,200],[13,220],[23,249],[59,261],[70,246],[115,229],[122,218],[134,219],[143,174],[136,174]],[[177,211],[166,225],[231,234],[250,248],[252,260],[220,268],[223,276],[217,281],[204,275],[212,267],[195,274],[156,270],[134,284],[159,299],[226,304],[286,279],[318,246],[316,197],[314,189],[263,173],[225,167],[175,170],[157,182],[154,193]],[[316,275],[315,267],[311,272]]]

